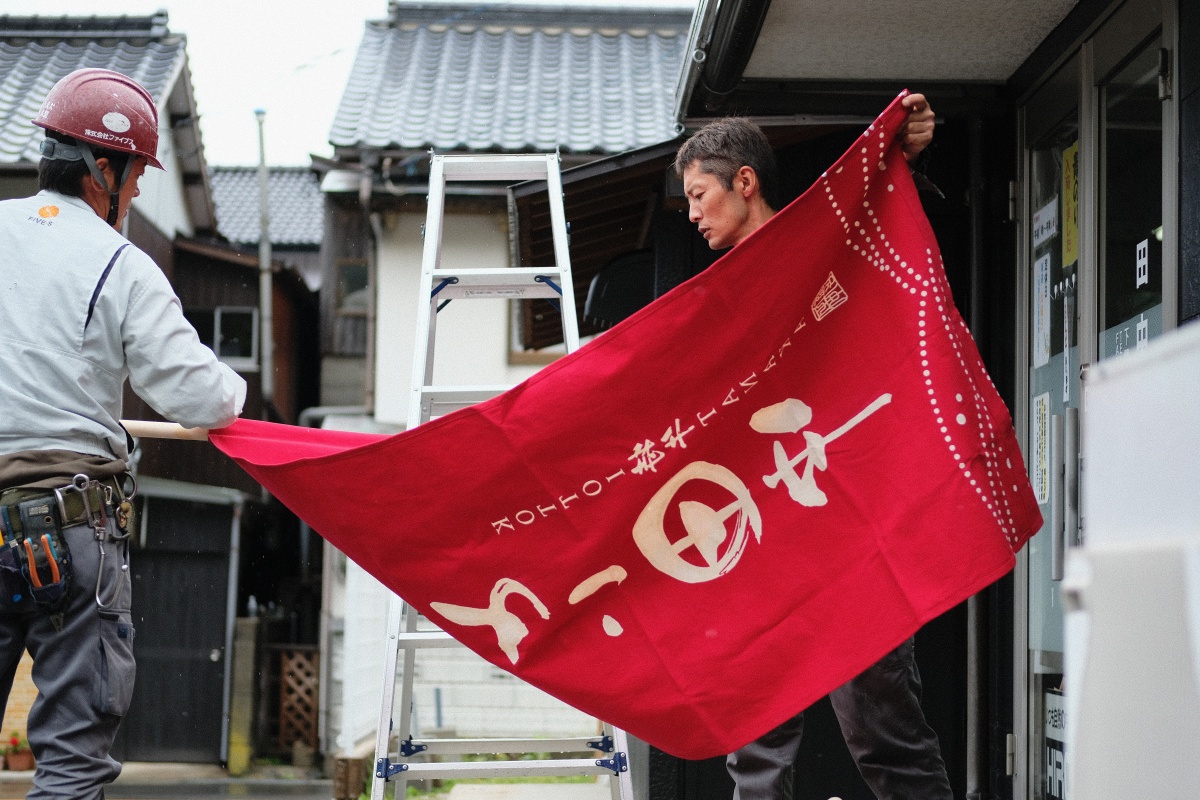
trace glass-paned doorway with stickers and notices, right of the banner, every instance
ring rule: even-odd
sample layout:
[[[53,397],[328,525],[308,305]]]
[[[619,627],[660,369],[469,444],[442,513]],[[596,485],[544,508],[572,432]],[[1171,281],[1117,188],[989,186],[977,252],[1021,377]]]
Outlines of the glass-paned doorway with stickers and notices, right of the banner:
[[[1019,567],[1016,798],[1070,796],[1060,593],[1086,537],[1079,422],[1086,371],[1177,318],[1170,0],[1127,0],[1021,107],[1028,467],[1046,521]],[[1136,425],[1135,420],[1129,421]],[[1021,780],[1024,776],[1024,780]]]

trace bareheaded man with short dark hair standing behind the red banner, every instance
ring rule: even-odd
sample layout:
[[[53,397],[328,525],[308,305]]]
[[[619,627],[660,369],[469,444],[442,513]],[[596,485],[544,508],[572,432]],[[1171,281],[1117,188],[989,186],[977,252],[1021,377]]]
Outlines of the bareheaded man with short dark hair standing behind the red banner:
[[[912,162],[934,136],[934,113],[922,95],[902,101],[908,116],[898,138]],[[676,157],[689,218],[713,249],[744,241],[775,215],[778,167],[763,132],[744,119],[716,120],[685,142]],[[858,678],[829,693],[846,746],[881,800],[950,800],[937,735],[920,708],[920,675],[910,637]],[[734,800],[792,796],[796,754],[804,733],[797,714],[730,753]]]

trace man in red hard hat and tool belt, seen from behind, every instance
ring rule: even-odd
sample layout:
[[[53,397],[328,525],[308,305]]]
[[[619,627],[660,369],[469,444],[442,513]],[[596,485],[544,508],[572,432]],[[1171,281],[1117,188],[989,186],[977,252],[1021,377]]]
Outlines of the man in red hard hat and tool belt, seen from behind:
[[[126,378],[166,416],[222,427],[246,381],[200,343],[162,270],[120,233],[158,169],[138,83],[78,70],[46,97],[41,192],[0,203],[0,705],[25,650],[38,696],[29,798],[96,800],[133,693]]]

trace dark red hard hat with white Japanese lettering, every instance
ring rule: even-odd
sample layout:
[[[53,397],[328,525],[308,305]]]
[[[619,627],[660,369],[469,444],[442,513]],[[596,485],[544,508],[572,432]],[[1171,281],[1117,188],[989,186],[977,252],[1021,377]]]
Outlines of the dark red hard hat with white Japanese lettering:
[[[158,109],[150,92],[120,72],[76,70],[50,89],[34,125],[82,144],[132,152],[162,169]]]

